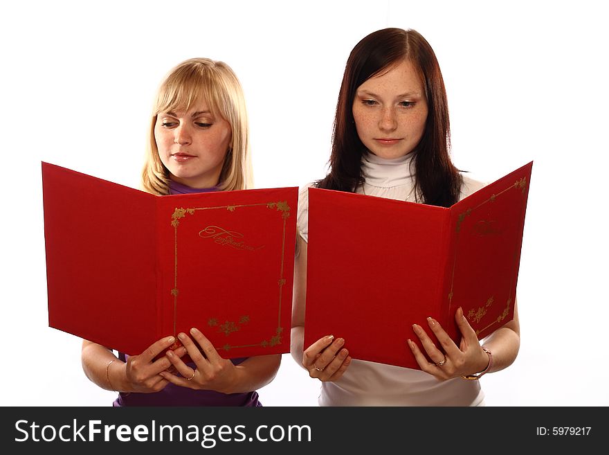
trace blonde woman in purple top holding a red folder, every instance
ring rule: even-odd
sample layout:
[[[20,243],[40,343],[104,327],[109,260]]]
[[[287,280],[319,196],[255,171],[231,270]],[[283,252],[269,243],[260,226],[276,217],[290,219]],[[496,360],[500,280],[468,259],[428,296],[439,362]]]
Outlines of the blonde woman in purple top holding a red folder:
[[[156,94],[143,188],[156,195],[242,190],[249,161],[246,105],[233,70],[207,58],[177,65]],[[170,336],[118,357],[83,340],[84,373],[119,392],[114,406],[262,406],[256,390],[273,380],[280,355],[224,359],[197,328],[178,339],[183,346],[174,351]],[[187,352],[189,364],[181,360]]]

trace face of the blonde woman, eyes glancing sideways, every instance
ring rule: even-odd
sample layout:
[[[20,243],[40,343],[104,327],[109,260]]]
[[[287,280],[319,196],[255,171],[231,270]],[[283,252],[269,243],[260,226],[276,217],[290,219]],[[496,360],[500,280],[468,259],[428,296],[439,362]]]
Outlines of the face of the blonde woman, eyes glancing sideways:
[[[212,114],[205,100],[194,103],[188,111],[159,112],[154,139],[172,180],[191,188],[219,183],[231,129],[224,118]]]

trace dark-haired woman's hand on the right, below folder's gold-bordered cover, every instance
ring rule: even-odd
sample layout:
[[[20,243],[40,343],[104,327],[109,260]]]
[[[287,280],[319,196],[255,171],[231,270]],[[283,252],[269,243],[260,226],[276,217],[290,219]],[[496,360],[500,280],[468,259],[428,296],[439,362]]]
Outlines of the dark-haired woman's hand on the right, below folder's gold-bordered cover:
[[[441,344],[442,350],[435,345],[425,330],[417,324],[412,325],[412,328],[421,340],[427,357],[421,353],[419,346],[415,342],[408,339],[408,346],[410,346],[412,354],[415,355],[421,370],[434,375],[441,381],[478,373],[487,368],[489,364],[489,356],[482,350],[480,341],[478,341],[475,331],[463,315],[461,307],[455,313],[455,321],[457,321],[457,326],[462,334],[459,346],[455,344],[451,337],[448,337],[448,334],[433,318],[428,318],[427,323]]]

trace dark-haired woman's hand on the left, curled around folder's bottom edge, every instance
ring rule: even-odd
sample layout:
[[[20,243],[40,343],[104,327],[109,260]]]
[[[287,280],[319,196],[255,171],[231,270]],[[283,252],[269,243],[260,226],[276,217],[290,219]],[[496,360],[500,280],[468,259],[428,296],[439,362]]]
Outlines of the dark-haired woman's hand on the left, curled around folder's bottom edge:
[[[343,348],[344,345],[343,338],[322,337],[302,353],[302,366],[307,368],[309,376],[320,381],[337,381],[351,364],[349,351]]]

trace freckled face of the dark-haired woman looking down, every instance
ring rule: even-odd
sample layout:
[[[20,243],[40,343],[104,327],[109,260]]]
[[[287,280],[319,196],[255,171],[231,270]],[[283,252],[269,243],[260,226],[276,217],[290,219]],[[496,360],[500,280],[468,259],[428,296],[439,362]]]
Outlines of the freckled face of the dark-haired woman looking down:
[[[427,113],[423,84],[408,60],[366,80],[353,100],[359,139],[385,159],[412,152],[423,136]]]

